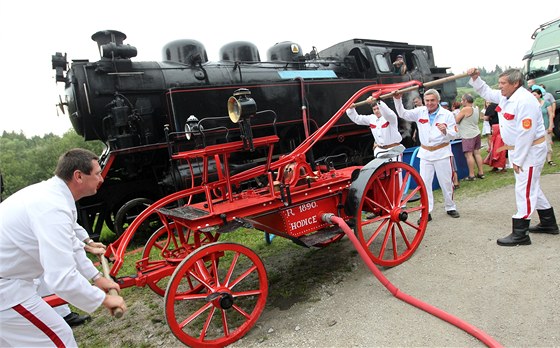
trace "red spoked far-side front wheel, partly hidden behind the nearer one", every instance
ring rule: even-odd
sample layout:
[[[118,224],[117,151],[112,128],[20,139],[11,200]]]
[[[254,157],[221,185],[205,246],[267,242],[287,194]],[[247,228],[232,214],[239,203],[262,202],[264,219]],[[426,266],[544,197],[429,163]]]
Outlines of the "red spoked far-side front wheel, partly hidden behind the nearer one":
[[[174,222],[160,227],[148,239],[142,252],[142,259],[148,258],[148,261],[142,263],[145,269],[141,271],[150,273],[150,270],[157,270],[157,276],[148,276],[146,284],[160,296],[165,295],[169,277],[173,274],[175,267],[188,254],[202,245],[217,241],[219,238],[218,233],[194,232],[181,226],[179,228],[178,231]],[[193,285],[191,291],[197,292],[200,288],[200,285]]]

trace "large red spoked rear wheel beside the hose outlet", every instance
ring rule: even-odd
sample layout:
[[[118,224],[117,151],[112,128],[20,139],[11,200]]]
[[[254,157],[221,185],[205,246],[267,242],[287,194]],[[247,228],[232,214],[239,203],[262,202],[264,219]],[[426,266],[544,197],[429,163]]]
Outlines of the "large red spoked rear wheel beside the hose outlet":
[[[381,165],[366,185],[358,212],[356,235],[371,260],[388,267],[401,264],[420,245],[428,223],[420,174],[402,162]]]

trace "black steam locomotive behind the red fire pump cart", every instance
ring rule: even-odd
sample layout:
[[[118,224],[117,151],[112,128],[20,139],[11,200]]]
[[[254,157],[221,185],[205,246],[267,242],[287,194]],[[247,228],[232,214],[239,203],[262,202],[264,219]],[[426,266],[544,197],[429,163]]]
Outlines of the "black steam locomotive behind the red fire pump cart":
[[[163,47],[161,62],[136,62],[137,49],[124,44],[125,34],[105,30],[91,38],[99,48],[98,61],[69,64],[66,54],[57,52],[52,66],[57,82],[65,84],[60,107],[76,132],[106,144],[100,156],[105,183],[95,196],[78,202],[80,222],[93,238],[103,223],[119,235],[147,204],[200,179],[196,168],[182,170],[184,163],[171,163],[170,152],[239,140],[239,126],[227,118],[228,98],[239,89],[249,90],[258,106],[252,132],[276,133],[279,156],[364,86],[449,76],[447,68],[435,66],[430,46],[403,42],[352,39],[304,54],[297,43],[286,41],[273,45],[261,61],[254,44],[237,41],[224,45],[220,60],[211,62],[202,43],[177,40]],[[397,55],[405,58],[405,75],[393,69]],[[438,90],[449,102],[457,94],[454,81]],[[414,96],[405,95],[405,105],[411,106]],[[403,144],[414,146],[411,125],[402,121],[399,127]],[[338,165],[365,164],[372,142],[369,129],[343,117],[310,155],[344,154]],[[250,152],[233,159],[231,170],[258,161],[258,152]]]

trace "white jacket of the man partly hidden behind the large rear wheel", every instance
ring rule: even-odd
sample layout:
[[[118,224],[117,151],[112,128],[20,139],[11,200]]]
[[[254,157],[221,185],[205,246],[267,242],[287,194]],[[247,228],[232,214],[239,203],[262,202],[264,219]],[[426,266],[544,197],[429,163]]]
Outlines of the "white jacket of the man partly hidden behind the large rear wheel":
[[[402,136],[399,133],[397,115],[384,102],[379,103],[381,117],[375,114],[360,115],[356,109],[346,110],[346,115],[354,122],[362,126],[369,126],[375,143],[380,146],[400,143]]]

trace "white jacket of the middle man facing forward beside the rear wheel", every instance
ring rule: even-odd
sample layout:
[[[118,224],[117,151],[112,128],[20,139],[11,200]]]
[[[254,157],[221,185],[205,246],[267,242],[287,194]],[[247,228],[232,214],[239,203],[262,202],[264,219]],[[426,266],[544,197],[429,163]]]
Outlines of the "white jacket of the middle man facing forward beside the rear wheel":
[[[397,114],[400,118],[410,122],[416,122],[416,125],[418,126],[420,144],[424,146],[438,146],[440,144],[447,143],[447,146],[434,151],[426,150],[423,147],[420,147],[417,155],[418,158],[428,161],[436,161],[453,156],[450,142],[451,140],[457,138],[459,130],[457,129],[457,123],[455,122],[455,117],[451,111],[438,107],[434,123],[430,124],[427,107],[419,106],[411,110],[406,110],[403,106],[402,99],[393,98],[393,100],[395,102]],[[443,134],[437,127],[441,123],[446,125],[446,134]]]

